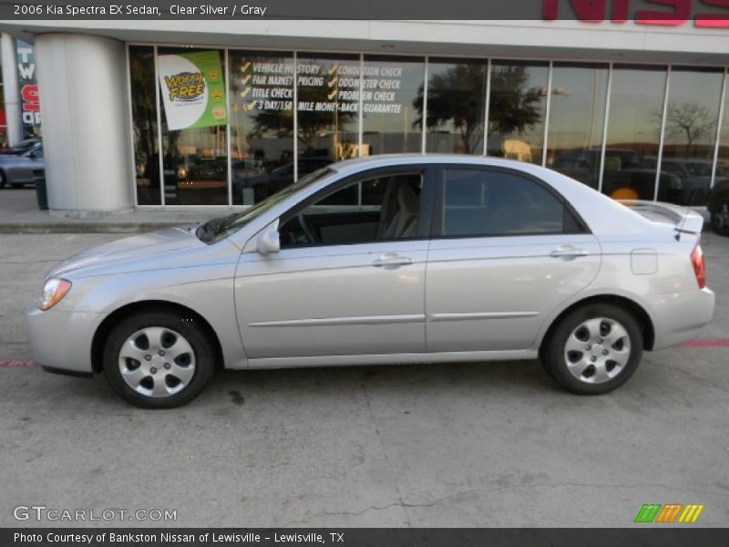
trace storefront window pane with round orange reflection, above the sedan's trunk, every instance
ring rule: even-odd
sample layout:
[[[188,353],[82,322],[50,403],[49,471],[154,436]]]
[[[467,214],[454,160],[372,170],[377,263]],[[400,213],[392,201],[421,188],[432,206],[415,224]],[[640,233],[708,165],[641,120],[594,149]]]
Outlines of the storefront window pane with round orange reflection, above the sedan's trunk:
[[[613,67],[603,193],[616,199],[653,199],[665,86],[665,67]],[[662,184],[665,191],[675,186],[670,175],[662,179],[668,179]],[[659,193],[660,200],[667,197]]]

